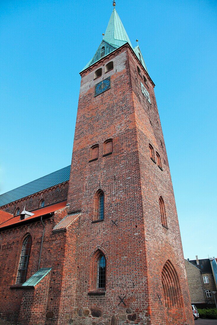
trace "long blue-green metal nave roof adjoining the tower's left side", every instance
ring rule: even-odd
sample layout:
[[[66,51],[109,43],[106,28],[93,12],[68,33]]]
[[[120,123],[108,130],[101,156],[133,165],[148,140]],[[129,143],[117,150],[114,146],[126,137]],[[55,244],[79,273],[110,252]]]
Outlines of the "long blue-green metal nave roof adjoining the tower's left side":
[[[71,165],[59,169],[51,174],[40,177],[35,181],[22,185],[18,188],[14,188],[9,192],[1,194],[0,206],[20,200],[26,196],[40,192],[43,189],[50,188],[52,186],[68,181],[70,175],[70,167]]]

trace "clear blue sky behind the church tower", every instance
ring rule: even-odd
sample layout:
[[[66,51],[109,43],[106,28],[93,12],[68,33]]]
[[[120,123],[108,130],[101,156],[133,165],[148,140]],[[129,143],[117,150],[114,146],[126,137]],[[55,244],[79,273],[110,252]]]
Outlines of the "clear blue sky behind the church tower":
[[[184,256],[217,256],[217,3],[116,3],[156,85]],[[79,72],[112,9],[111,0],[1,1],[0,193],[71,163]]]

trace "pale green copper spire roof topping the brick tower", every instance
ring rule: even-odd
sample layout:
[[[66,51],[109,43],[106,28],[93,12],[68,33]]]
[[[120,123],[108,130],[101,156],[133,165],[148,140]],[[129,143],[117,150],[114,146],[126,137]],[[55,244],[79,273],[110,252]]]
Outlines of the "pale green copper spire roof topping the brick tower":
[[[120,17],[116,9],[114,8],[111,17],[108,22],[108,26],[105,32],[105,36],[100,43],[99,47],[97,48],[94,57],[86,64],[86,66],[82,69],[85,70],[86,68],[90,67],[95,62],[99,61],[100,59],[106,57],[109,53],[113,52],[116,48],[122,46],[123,44],[128,43],[132,49],[134,50],[137,58],[148,72],[146,68],[145,61],[143,59],[142,53],[138,46],[133,48],[130,39],[123,27]]]

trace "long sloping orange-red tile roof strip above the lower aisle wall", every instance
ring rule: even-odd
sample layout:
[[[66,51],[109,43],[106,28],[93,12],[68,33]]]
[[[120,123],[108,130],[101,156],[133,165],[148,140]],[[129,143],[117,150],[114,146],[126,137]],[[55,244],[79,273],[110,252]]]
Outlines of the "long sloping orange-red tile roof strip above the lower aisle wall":
[[[18,216],[14,217],[14,218],[11,218],[10,220],[7,219],[7,221],[5,221],[3,224],[0,224],[0,228],[11,226],[11,225],[17,225],[17,224],[22,223],[24,221],[26,222],[26,220],[34,219],[34,218],[39,217],[41,215],[48,214],[48,213],[55,212],[55,211],[58,211],[60,209],[63,209],[63,208],[65,208],[65,206],[66,206],[66,201],[56,203],[56,204],[53,204],[53,205],[49,205],[49,206],[47,206],[45,208],[41,208],[41,209],[32,211],[32,213],[34,213],[34,214],[31,215],[30,217],[24,219],[24,220],[20,220],[20,215],[18,215]]]

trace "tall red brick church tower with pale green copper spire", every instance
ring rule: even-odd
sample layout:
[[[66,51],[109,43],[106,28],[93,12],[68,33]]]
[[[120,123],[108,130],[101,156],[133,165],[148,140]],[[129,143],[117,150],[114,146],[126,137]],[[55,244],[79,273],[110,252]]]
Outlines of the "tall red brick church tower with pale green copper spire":
[[[115,9],[81,85],[68,190],[74,324],[194,324],[164,137],[139,46]],[[74,252],[75,253],[75,252]]]

